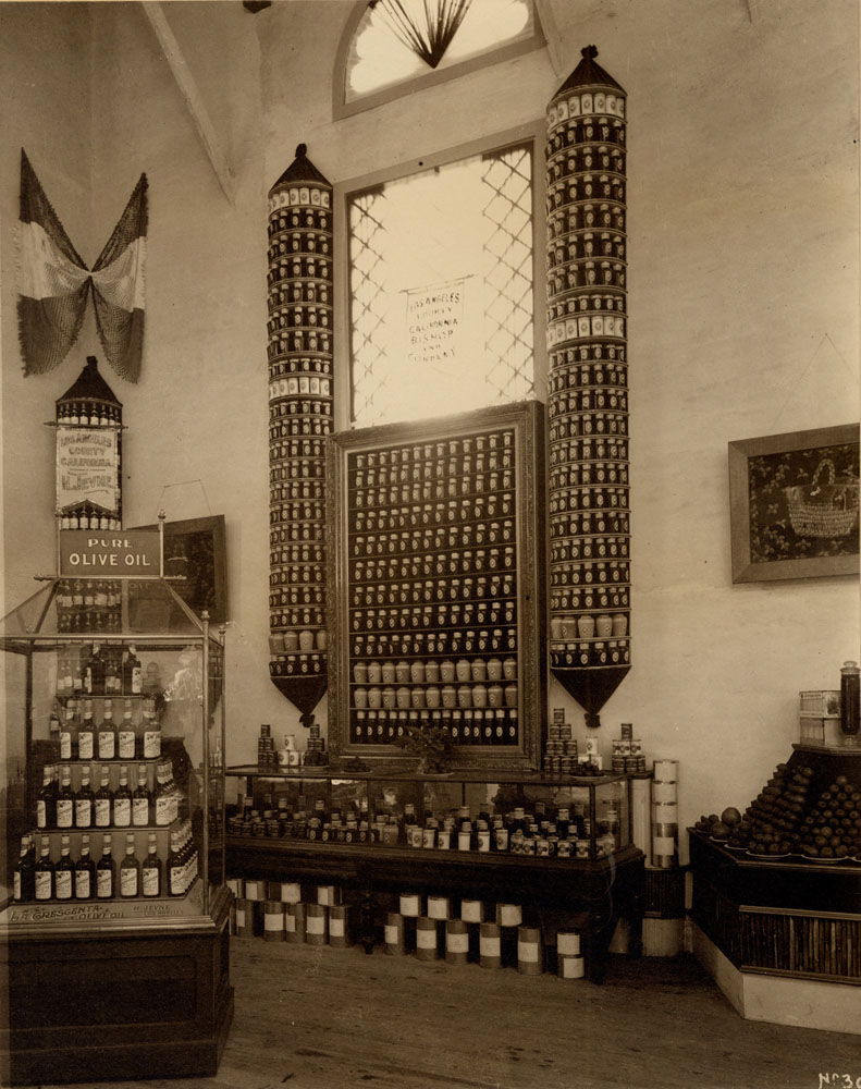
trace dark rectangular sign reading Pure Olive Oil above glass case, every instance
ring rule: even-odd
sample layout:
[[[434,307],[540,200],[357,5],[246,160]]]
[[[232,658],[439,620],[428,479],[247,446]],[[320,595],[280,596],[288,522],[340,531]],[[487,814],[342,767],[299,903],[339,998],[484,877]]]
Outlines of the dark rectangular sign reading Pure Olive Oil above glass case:
[[[152,529],[60,533],[60,576],[158,578],[159,533]]]

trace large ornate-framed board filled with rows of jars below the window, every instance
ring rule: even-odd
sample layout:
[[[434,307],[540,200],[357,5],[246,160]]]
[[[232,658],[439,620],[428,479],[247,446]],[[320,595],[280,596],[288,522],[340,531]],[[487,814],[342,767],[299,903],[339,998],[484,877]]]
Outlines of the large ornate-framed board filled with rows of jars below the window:
[[[329,438],[333,755],[391,760],[436,727],[454,766],[539,766],[543,417],[529,401]]]

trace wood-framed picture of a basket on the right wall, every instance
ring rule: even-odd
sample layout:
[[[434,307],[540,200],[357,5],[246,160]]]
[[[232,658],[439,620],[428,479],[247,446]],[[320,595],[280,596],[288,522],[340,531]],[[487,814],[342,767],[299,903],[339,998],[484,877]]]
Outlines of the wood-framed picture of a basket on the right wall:
[[[859,426],[729,443],[733,582],[859,570]]]

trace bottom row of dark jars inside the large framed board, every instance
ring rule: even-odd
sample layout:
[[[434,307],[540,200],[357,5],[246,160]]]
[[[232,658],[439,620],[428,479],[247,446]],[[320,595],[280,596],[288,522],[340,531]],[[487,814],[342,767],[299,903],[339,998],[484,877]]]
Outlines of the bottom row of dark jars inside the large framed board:
[[[419,710],[395,708],[353,710],[350,736],[360,745],[392,745],[408,726],[440,726],[454,745],[517,745],[520,741],[516,707],[443,708]]]

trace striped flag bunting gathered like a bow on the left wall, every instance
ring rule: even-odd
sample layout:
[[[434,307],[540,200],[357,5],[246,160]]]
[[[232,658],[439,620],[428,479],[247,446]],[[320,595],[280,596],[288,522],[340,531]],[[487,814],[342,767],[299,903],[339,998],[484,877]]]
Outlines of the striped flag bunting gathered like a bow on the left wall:
[[[59,366],[77,340],[91,289],[96,326],[108,362],[136,382],[144,345],[147,178],[90,271],[21,150],[19,338],[25,375]]]

